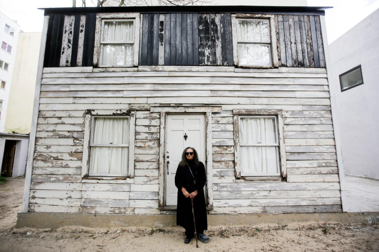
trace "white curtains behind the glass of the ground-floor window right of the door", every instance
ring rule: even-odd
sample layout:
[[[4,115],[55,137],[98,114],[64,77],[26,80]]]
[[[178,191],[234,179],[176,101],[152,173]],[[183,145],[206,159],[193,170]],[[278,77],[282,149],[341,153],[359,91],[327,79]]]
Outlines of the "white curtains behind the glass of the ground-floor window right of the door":
[[[240,120],[240,143],[276,144],[275,118],[246,118]],[[277,146],[241,146],[242,175],[277,174]]]

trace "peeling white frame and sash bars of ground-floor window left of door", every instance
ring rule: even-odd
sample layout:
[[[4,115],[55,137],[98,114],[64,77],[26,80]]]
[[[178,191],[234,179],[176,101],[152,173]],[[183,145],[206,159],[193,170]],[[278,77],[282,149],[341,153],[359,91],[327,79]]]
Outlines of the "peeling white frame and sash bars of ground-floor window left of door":
[[[134,177],[134,142],[135,142],[135,110],[87,110],[85,117],[85,131],[84,131],[84,143],[83,143],[83,161],[81,167],[81,176],[83,179],[91,177],[101,177],[105,179],[113,179],[116,177],[133,178]],[[93,125],[95,117],[128,117],[129,118],[129,143],[125,145],[103,145],[103,144],[91,144],[93,135]],[[129,162],[128,162],[128,174],[90,174],[90,150],[91,146],[113,146],[113,147],[129,147]]]

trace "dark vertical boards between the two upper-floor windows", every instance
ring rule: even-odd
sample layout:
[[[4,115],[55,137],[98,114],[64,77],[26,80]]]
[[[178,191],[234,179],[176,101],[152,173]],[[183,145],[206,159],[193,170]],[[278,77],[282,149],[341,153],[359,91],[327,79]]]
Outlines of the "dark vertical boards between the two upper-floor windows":
[[[230,14],[161,15],[143,14],[139,65],[158,65],[160,45],[162,65],[233,65]]]

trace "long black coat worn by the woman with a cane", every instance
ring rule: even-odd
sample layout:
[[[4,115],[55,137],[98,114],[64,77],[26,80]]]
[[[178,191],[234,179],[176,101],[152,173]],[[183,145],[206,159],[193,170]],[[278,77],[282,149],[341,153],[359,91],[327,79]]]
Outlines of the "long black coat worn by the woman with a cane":
[[[182,193],[182,187],[186,188],[188,193],[192,193],[197,189],[197,195],[193,198],[196,230],[207,230],[207,210],[205,208],[204,196],[204,185],[207,180],[205,167],[202,162],[199,162],[199,165],[195,165],[192,161],[188,163],[196,179],[196,185],[193,185],[193,177],[188,166],[181,167],[179,165],[175,174],[175,186],[178,188],[176,224],[184,227],[186,230],[193,229],[191,198],[185,198]]]

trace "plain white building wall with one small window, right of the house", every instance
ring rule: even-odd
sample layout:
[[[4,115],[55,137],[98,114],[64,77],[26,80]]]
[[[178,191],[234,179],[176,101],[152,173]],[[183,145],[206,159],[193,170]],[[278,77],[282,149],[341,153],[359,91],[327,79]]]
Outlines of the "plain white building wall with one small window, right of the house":
[[[379,178],[379,9],[330,44],[346,174]],[[341,81],[342,84],[341,84]]]

